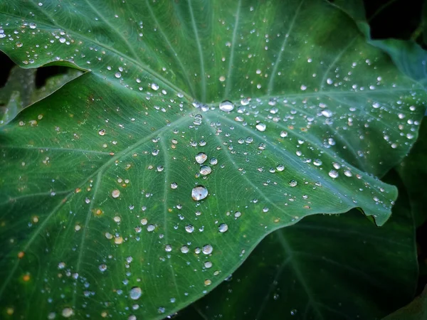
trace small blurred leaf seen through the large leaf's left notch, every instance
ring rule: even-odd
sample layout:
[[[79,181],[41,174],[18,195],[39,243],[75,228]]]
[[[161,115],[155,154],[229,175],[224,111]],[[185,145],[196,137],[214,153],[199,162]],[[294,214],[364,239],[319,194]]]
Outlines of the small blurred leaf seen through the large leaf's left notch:
[[[50,95],[81,74],[79,70],[70,69],[48,78],[46,85],[36,88],[35,69],[13,68],[8,82],[0,89],[0,125],[10,122],[23,108]]]

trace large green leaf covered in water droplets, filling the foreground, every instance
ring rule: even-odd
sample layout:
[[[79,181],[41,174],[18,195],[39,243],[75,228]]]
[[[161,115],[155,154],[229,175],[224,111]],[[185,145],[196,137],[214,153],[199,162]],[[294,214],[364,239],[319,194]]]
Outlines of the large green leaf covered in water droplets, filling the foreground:
[[[389,218],[375,176],[426,95],[327,2],[14,0],[0,21],[21,66],[90,71],[1,129],[2,316],[162,318],[277,228]]]

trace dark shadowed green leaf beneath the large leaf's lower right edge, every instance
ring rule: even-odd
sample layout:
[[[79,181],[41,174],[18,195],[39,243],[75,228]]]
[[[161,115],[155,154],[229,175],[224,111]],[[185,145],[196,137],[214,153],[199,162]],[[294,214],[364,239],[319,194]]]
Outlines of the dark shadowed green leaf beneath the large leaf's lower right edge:
[[[400,191],[399,176],[387,177]],[[414,238],[404,192],[381,228],[355,211],[306,218],[268,235],[227,282],[175,319],[381,319],[413,299]]]

